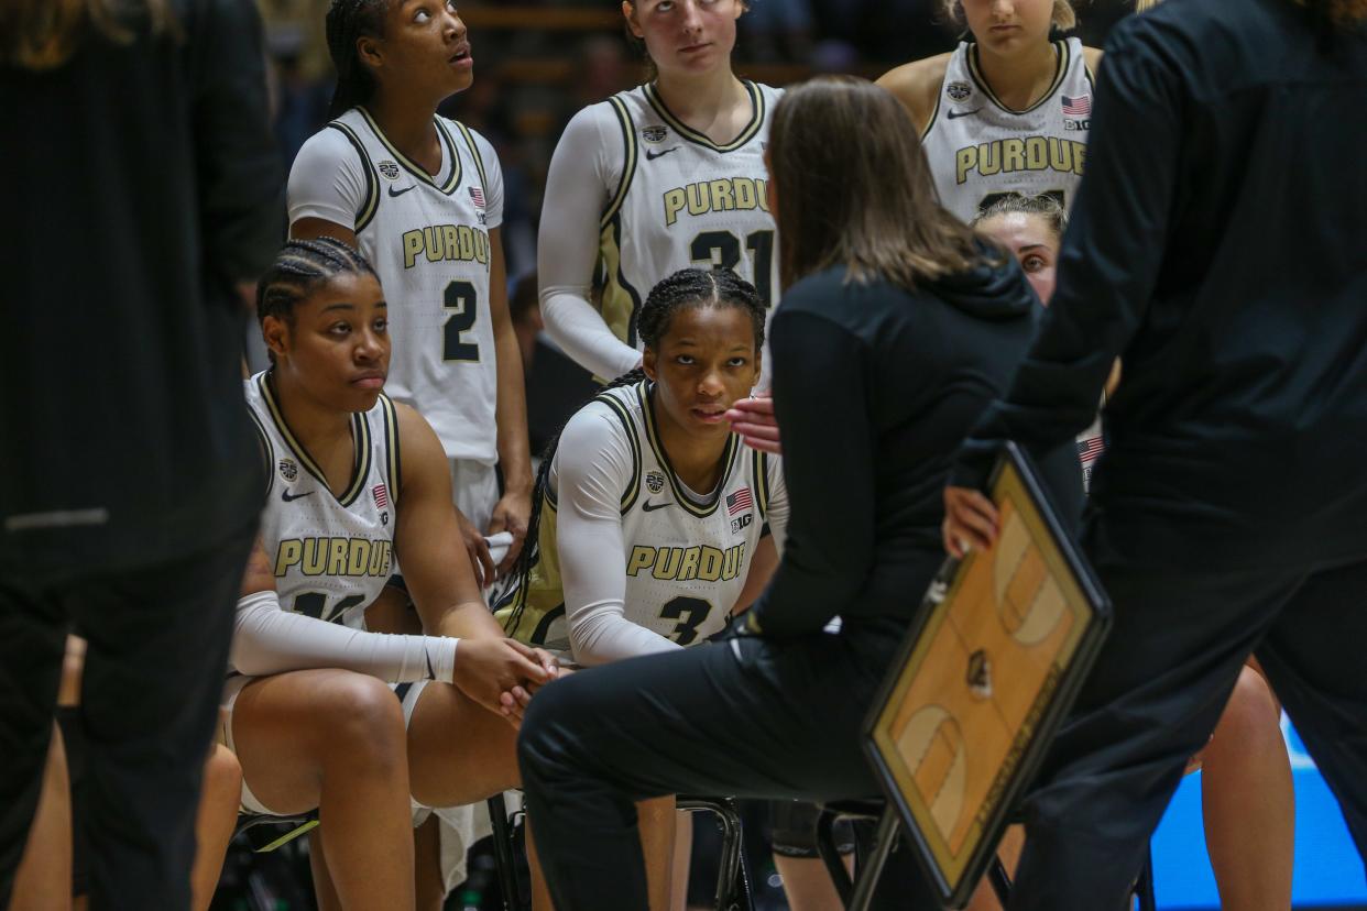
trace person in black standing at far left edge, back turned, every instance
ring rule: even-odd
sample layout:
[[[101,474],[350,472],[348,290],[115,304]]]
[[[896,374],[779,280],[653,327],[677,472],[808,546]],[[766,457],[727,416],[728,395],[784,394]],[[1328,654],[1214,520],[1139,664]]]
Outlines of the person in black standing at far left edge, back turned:
[[[71,621],[94,901],[186,907],[261,501],[238,284],[283,224],[256,7],[5,3],[0,109],[0,907]]]

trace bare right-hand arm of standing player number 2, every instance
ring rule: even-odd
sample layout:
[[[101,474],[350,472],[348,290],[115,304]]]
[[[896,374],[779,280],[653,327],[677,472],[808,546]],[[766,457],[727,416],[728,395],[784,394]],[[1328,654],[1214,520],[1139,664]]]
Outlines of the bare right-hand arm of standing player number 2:
[[[502,576],[517,563],[532,516],[532,447],[526,438],[526,389],[522,355],[509,316],[507,272],[503,262],[503,231],[489,231],[489,316],[498,358],[498,448],[503,471],[503,497],[493,507],[488,534],[513,533],[513,545],[498,567]]]

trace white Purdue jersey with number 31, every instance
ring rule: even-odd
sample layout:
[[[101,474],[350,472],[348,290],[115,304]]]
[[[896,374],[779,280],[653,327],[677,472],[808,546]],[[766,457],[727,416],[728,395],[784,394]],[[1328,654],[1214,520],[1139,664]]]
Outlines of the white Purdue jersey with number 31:
[[[662,279],[689,266],[725,266],[778,302],[778,247],[764,148],[778,89],[745,83],[753,115],[716,145],[670,113],[653,85],[608,98],[622,128],[623,164],[599,235],[603,318],[641,347],[636,314]]]

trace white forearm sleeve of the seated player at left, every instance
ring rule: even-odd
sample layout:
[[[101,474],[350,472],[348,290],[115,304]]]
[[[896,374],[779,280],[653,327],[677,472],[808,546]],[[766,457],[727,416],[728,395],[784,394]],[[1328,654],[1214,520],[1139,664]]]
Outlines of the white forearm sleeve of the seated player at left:
[[[258,591],[238,601],[228,660],[235,671],[252,676],[340,668],[388,683],[451,683],[457,642],[351,630],[284,611],[275,591]]]

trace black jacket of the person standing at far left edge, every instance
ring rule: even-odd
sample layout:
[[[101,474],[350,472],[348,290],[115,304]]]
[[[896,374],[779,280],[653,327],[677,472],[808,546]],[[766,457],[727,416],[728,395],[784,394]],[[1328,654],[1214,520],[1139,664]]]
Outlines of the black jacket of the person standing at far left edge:
[[[0,572],[156,564],[260,509],[234,287],[284,224],[260,19],[171,7],[174,34],[0,67]]]

